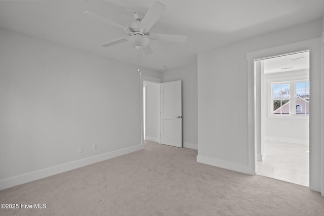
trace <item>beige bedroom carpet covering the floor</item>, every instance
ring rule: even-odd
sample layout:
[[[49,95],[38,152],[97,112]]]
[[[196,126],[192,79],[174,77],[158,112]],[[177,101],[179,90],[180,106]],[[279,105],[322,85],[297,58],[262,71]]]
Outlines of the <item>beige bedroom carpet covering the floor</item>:
[[[307,187],[196,162],[197,151],[145,149],[0,191],[0,215],[324,215]]]

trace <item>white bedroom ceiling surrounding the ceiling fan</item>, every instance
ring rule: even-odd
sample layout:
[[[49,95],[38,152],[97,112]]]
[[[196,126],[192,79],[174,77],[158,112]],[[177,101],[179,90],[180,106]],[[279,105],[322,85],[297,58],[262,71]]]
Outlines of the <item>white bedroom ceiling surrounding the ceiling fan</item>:
[[[134,12],[146,13],[154,0],[0,1],[0,27],[131,64],[137,50],[128,43],[103,48],[101,44],[127,36],[93,20],[86,10],[124,26]],[[184,44],[151,40],[152,55],[141,65],[157,71],[197,64],[197,53],[242,39],[320,19],[324,0],[159,0],[167,11],[151,33],[187,35]],[[160,68],[161,65],[166,68]]]

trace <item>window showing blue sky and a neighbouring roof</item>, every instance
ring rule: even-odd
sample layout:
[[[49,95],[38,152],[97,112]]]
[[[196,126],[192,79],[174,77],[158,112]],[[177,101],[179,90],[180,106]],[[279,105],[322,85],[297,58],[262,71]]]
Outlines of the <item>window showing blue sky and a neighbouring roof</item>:
[[[271,82],[270,110],[275,116],[308,115],[309,81]]]

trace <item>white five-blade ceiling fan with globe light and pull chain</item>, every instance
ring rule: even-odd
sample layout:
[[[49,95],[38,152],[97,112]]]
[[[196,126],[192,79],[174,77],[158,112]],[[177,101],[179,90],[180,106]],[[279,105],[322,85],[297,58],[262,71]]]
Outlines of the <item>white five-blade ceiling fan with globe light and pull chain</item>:
[[[134,22],[130,23],[127,27],[120,25],[116,22],[113,22],[107,18],[104,18],[98,14],[92,13],[90,11],[84,12],[85,15],[93,19],[104,22],[108,25],[117,27],[121,30],[124,30],[128,33],[128,37],[119,38],[105,44],[102,44],[102,47],[110,47],[121,42],[129,41],[129,43],[136,49],[142,49],[146,55],[152,54],[152,50],[148,45],[149,39],[153,40],[164,40],[171,42],[185,42],[187,36],[183,35],[174,35],[174,34],[159,34],[159,33],[150,33],[150,28],[154,23],[163,15],[167,10],[167,7],[160,2],[154,2],[150,9],[147,11],[146,15],[135,12],[133,17]]]

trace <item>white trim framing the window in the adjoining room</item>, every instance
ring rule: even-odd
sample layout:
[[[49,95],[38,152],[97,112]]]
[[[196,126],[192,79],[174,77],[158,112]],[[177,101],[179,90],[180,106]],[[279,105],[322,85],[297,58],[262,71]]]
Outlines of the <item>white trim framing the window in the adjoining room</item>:
[[[296,97],[295,97],[295,88],[296,82],[309,82],[308,75],[301,76],[289,76],[289,77],[280,77],[280,78],[270,78],[267,79],[267,110],[268,110],[268,118],[286,118],[286,119],[309,119],[309,115],[296,114]],[[290,114],[273,114],[273,105],[272,105],[272,86],[273,83],[290,83]],[[293,85],[292,85],[293,83]],[[293,87],[293,90],[292,90]],[[294,93],[294,94],[293,94]],[[293,96],[291,95],[293,94]],[[271,108],[272,107],[272,108]]]

